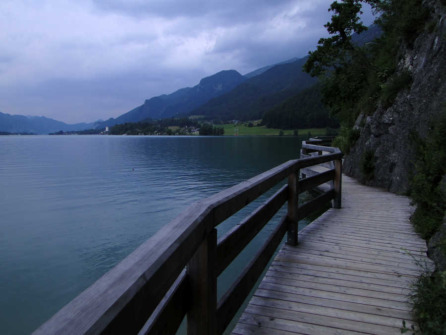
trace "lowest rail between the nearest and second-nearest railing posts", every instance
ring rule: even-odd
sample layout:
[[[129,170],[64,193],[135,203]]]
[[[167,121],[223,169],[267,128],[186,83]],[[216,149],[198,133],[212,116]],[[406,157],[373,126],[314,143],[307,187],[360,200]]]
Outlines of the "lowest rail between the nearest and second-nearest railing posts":
[[[283,235],[286,232],[286,216],[282,218],[272,235],[268,238],[262,248],[256,253],[254,259],[244,268],[241,275],[223,294],[217,306],[217,330],[222,334],[237,310],[242,305],[247,294],[254,287],[260,274],[264,271],[276,251]]]

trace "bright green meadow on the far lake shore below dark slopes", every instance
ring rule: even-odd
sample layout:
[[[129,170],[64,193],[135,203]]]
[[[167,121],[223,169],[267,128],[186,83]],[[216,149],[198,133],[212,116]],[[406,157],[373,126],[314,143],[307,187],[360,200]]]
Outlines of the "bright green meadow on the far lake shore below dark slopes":
[[[246,125],[246,126],[245,126]],[[239,136],[264,136],[264,135],[276,135],[279,136],[280,131],[283,131],[284,136],[292,136],[294,134],[294,130],[281,130],[276,128],[266,128],[266,126],[261,127],[248,127],[247,124],[239,123],[239,124],[223,124],[223,125],[215,125],[216,127],[224,128],[224,135],[226,136],[234,136],[235,129],[238,128],[237,135]],[[311,136],[325,136],[326,129],[325,128],[311,128],[311,129],[299,129],[299,135],[308,135]]]

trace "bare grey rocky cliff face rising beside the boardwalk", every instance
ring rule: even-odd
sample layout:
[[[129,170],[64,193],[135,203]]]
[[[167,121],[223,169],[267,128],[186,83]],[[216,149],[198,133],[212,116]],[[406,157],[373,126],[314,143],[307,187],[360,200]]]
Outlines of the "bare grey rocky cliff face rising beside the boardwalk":
[[[446,10],[441,0],[426,0],[425,4],[431,9],[431,20],[413,46],[402,45],[399,52],[397,74],[412,75],[410,88],[399,92],[390,107],[379,107],[372,116],[359,116],[355,128],[361,131],[360,137],[343,167],[347,175],[394,193],[407,191],[413,170],[415,148],[410,132],[425,137],[430,121],[445,110]],[[361,171],[366,152],[374,152],[371,180],[365,180]]]

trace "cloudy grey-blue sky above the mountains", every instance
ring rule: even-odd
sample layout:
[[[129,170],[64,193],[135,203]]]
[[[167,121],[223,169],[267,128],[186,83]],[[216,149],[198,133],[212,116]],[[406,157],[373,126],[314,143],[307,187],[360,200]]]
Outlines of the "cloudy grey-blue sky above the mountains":
[[[0,112],[105,120],[223,69],[304,57],[331,2],[1,0]]]

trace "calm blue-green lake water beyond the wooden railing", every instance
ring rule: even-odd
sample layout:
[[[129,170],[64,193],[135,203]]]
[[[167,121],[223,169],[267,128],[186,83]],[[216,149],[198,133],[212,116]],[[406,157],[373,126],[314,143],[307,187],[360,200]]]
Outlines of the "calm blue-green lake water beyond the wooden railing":
[[[194,201],[298,158],[302,139],[0,136],[0,334],[31,333]]]

